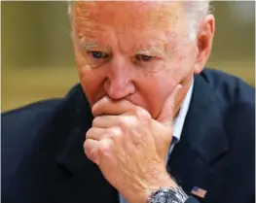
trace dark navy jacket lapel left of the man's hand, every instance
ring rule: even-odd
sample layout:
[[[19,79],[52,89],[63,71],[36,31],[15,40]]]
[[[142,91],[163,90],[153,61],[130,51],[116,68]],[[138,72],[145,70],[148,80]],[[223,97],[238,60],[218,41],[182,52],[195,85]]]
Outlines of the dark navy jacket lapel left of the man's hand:
[[[85,133],[75,132],[80,137]],[[54,192],[57,202],[61,203],[107,203],[118,200],[114,187],[104,179],[98,167],[87,158],[83,150],[83,141],[69,140],[68,146],[58,156],[57,164],[63,173]]]

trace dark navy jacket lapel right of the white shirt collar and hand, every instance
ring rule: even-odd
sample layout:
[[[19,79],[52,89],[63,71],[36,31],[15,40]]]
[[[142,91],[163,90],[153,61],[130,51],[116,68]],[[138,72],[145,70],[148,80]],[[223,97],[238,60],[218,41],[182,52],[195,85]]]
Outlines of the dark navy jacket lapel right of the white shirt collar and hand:
[[[167,170],[187,193],[191,192],[193,186],[206,190],[203,199],[207,203],[216,202],[214,198],[221,190],[221,177],[212,165],[228,151],[223,125],[222,108],[216,93],[201,75],[195,76],[181,140],[168,159]]]

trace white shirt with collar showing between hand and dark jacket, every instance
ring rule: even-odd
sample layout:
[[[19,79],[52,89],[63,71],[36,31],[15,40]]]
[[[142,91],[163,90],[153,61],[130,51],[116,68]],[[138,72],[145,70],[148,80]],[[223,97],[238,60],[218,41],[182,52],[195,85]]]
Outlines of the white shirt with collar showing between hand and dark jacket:
[[[187,116],[189,106],[190,106],[193,86],[194,86],[194,80],[193,80],[193,83],[190,86],[190,88],[189,88],[189,90],[188,90],[188,92],[185,96],[185,99],[183,100],[183,102],[180,106],[180,110],[178,112],[178,115],[173,120],[172,142],[171,142],[171,145],[169,147],[169,151],[166,154],[166,163],[167,163],[168,155],[172,152],[175,144],[177,144],[180,141],[181,132],[182,132],[183,125],[184,125],[184,122],[185,122],[185,118]],[[119,202],[120,203],[127,203],[127,201],[124,199],[122,194],[119,194]]]

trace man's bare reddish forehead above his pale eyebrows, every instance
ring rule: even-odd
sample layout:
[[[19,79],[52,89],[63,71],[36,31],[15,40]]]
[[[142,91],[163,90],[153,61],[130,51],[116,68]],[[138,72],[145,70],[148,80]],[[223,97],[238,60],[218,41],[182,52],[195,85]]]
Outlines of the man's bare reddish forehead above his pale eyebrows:
[[[75,31],[78,37],[89,39],[113,32],[134,36],[137,40],[145,36],[154,38],[156,35],[161,35],[160,33],[177,36],[184,27],[183,16],[183,6],[180,2],[75,1],[74,3]]]

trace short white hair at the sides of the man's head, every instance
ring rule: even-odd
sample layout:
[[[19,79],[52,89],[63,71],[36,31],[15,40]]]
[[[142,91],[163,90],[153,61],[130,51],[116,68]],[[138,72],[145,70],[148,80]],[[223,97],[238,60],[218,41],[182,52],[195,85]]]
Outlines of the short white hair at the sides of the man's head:
[[[196,40],[201,19],[210,14],[210,0],[184,1],[189,41]],[[68,16],[73,18],[73,0],[68,0]]]

